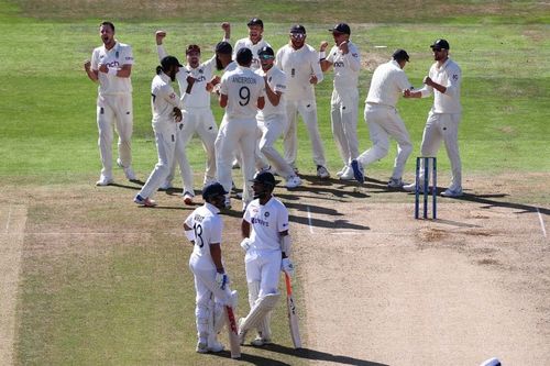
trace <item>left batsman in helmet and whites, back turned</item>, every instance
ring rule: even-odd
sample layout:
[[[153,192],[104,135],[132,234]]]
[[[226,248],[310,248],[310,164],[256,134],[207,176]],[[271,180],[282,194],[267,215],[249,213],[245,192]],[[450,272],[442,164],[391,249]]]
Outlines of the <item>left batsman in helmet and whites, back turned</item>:
[[[186,237],[193,243],[189,268],[195,277],[195,317],[198,353],[221,352],[217,335],[224,324],[223,306],[237,306],[237,291],[229,292],[229,276],[221,255],[223,209],[227,191],[219,182],[202,190],[205,204],[193,211],[184,222]]]

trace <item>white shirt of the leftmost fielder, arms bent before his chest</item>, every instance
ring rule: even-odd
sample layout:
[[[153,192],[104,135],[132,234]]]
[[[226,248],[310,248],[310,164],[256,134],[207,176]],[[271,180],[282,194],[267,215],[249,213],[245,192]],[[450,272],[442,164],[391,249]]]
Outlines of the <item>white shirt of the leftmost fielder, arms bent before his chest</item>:
[[[99,70],[99,65],[107,65],[109,68],[121,69],[122,65],[133,65],[134,56],[132,47],[128,44],[116,42],[114,46],[107,51],[105,45],[99,46],[91,53],[91,69]],[[122,95],[132,92],[132,81],[130,78],[120,78],[107,73],[98,73],[99,88],[101,96]]]

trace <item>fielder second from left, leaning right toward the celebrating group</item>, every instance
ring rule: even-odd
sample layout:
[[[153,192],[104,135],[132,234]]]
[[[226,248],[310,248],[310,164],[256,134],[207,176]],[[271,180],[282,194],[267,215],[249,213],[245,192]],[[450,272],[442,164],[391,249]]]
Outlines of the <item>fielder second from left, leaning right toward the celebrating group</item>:
[[[153,131],[155,132],[158,163],[148,176],[147,181],[135,196],[134,202],[144,207],[154,207],[151,199],[161,184],[166,179],[174,160],[176,134],[182,122],[182,108],[185,97],[179,99],[172,88],[170,81],[183,67],[174,56],[166,56],[156,68],[156,76],[151,84],[151,108],[153,110]],[[190,78],[193,79],[193,78]],[[193,80],[190,80],[193,82]]]

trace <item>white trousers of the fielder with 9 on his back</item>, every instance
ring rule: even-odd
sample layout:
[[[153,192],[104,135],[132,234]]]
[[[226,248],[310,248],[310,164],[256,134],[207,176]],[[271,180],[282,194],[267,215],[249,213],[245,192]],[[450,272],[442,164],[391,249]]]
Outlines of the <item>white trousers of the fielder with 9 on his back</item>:
[[[256,119],[234,119],[223,115],[218,137],[216,137],[216,171],[218,181],[226,191],[231,191],[231,166],[233,153],[242,157],[243,196],[245,204],[252,201],[253,191],[250,180],[254,178],[254,149],[257,138]]]

